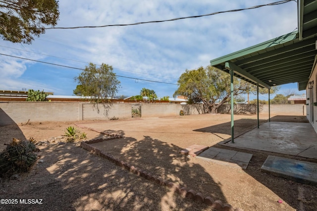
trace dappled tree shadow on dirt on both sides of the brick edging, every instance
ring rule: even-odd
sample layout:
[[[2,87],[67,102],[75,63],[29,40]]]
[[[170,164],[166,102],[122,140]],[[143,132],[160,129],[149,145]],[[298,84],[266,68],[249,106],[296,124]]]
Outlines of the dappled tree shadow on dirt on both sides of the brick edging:
[[[122,131],[106,132],[124,135]],[[201,166],[193,164],[192,170],[183,170],[191,164],[187,163],[189,158],[178,154],[180,148],[177,146],[148,136],[141,141],[127,137],[96,145],[101,145],[104,152],[115,158],[163,178],[167,175],[164,179],[189,185],[194,190],[200,190],[199,184],[192,184],[190,178],[200,176],[202,182],[212,183],[217,189],[215,192],[221,193],[219,184],[215,184]],[[128,150],[124,152],[123,147]],[[29,174],[15,181],[1,181],[0,197],[42,199],[43,204],[5,204],[0,205],[0,210],[210,210],[203,203],[183,199],[166,187],[87,152],[78,143],[42,146],[40,155],[42,161]],[[189,175],[189,179],[184,179],[184,174]],[[222,195],[214,197],[225,202]]]

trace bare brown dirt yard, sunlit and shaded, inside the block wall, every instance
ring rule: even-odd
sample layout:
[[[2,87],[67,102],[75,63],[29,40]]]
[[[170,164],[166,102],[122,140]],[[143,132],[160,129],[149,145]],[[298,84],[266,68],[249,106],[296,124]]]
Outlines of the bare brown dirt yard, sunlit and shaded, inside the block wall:
[[[256,118],[255,115],[235,115],[235,135],[255,128]],[[267,117],[261,118],[260,122],[264,123]],[[305,118],[276,116],[272,120],[303,122]],[[230,115],[203,114],[0,126],[1,151],[5,148],[3,144],[13,137],[33,137],[43,142],[38,146],[41,157],[31,172],[20,174],[15,180],[0,181],[0,199],[18,199],[18,202],[20,199],[42,199],[42,204],[2,204],[0,211],[212,210],[83,150],[78,142],[60,144],[68,126],[86,132],[88,139],[106,138],[96,131],[120,134],[123,138],[92,145],[130,165],[234,208],[244,211],[317,210],[316,186],[260,170],[268,155],[291,156],[219,146],[217,143],[230,138]],[[180,150],[193,144],[251,153],[253,158],[243,170],[179,154]]]

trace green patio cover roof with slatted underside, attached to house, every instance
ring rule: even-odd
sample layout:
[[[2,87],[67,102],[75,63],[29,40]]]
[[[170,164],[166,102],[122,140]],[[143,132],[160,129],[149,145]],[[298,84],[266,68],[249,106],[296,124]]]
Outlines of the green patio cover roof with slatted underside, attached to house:
[[[306,89],[317,60],[317,0],[299,0],[299,31],[211,60],[211,66],[270,88],[298,83]]]

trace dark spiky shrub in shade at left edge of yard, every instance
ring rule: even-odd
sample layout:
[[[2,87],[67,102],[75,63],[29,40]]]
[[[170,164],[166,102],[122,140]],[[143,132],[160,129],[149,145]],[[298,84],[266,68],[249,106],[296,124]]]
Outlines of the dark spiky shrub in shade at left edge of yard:
[[[39,151],[35,140],[19,140],[13,138],[10,144],[0,153],[0,177],[10,177],[20,172],[28,172],[36,162]]]

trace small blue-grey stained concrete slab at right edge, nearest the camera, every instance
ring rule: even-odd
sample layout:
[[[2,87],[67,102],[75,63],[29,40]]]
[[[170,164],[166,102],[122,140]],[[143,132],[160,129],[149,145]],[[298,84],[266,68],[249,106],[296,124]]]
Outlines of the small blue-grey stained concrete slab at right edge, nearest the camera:
[[[317,184],[317,163],[268,156],[261,170],[296,182]]]

